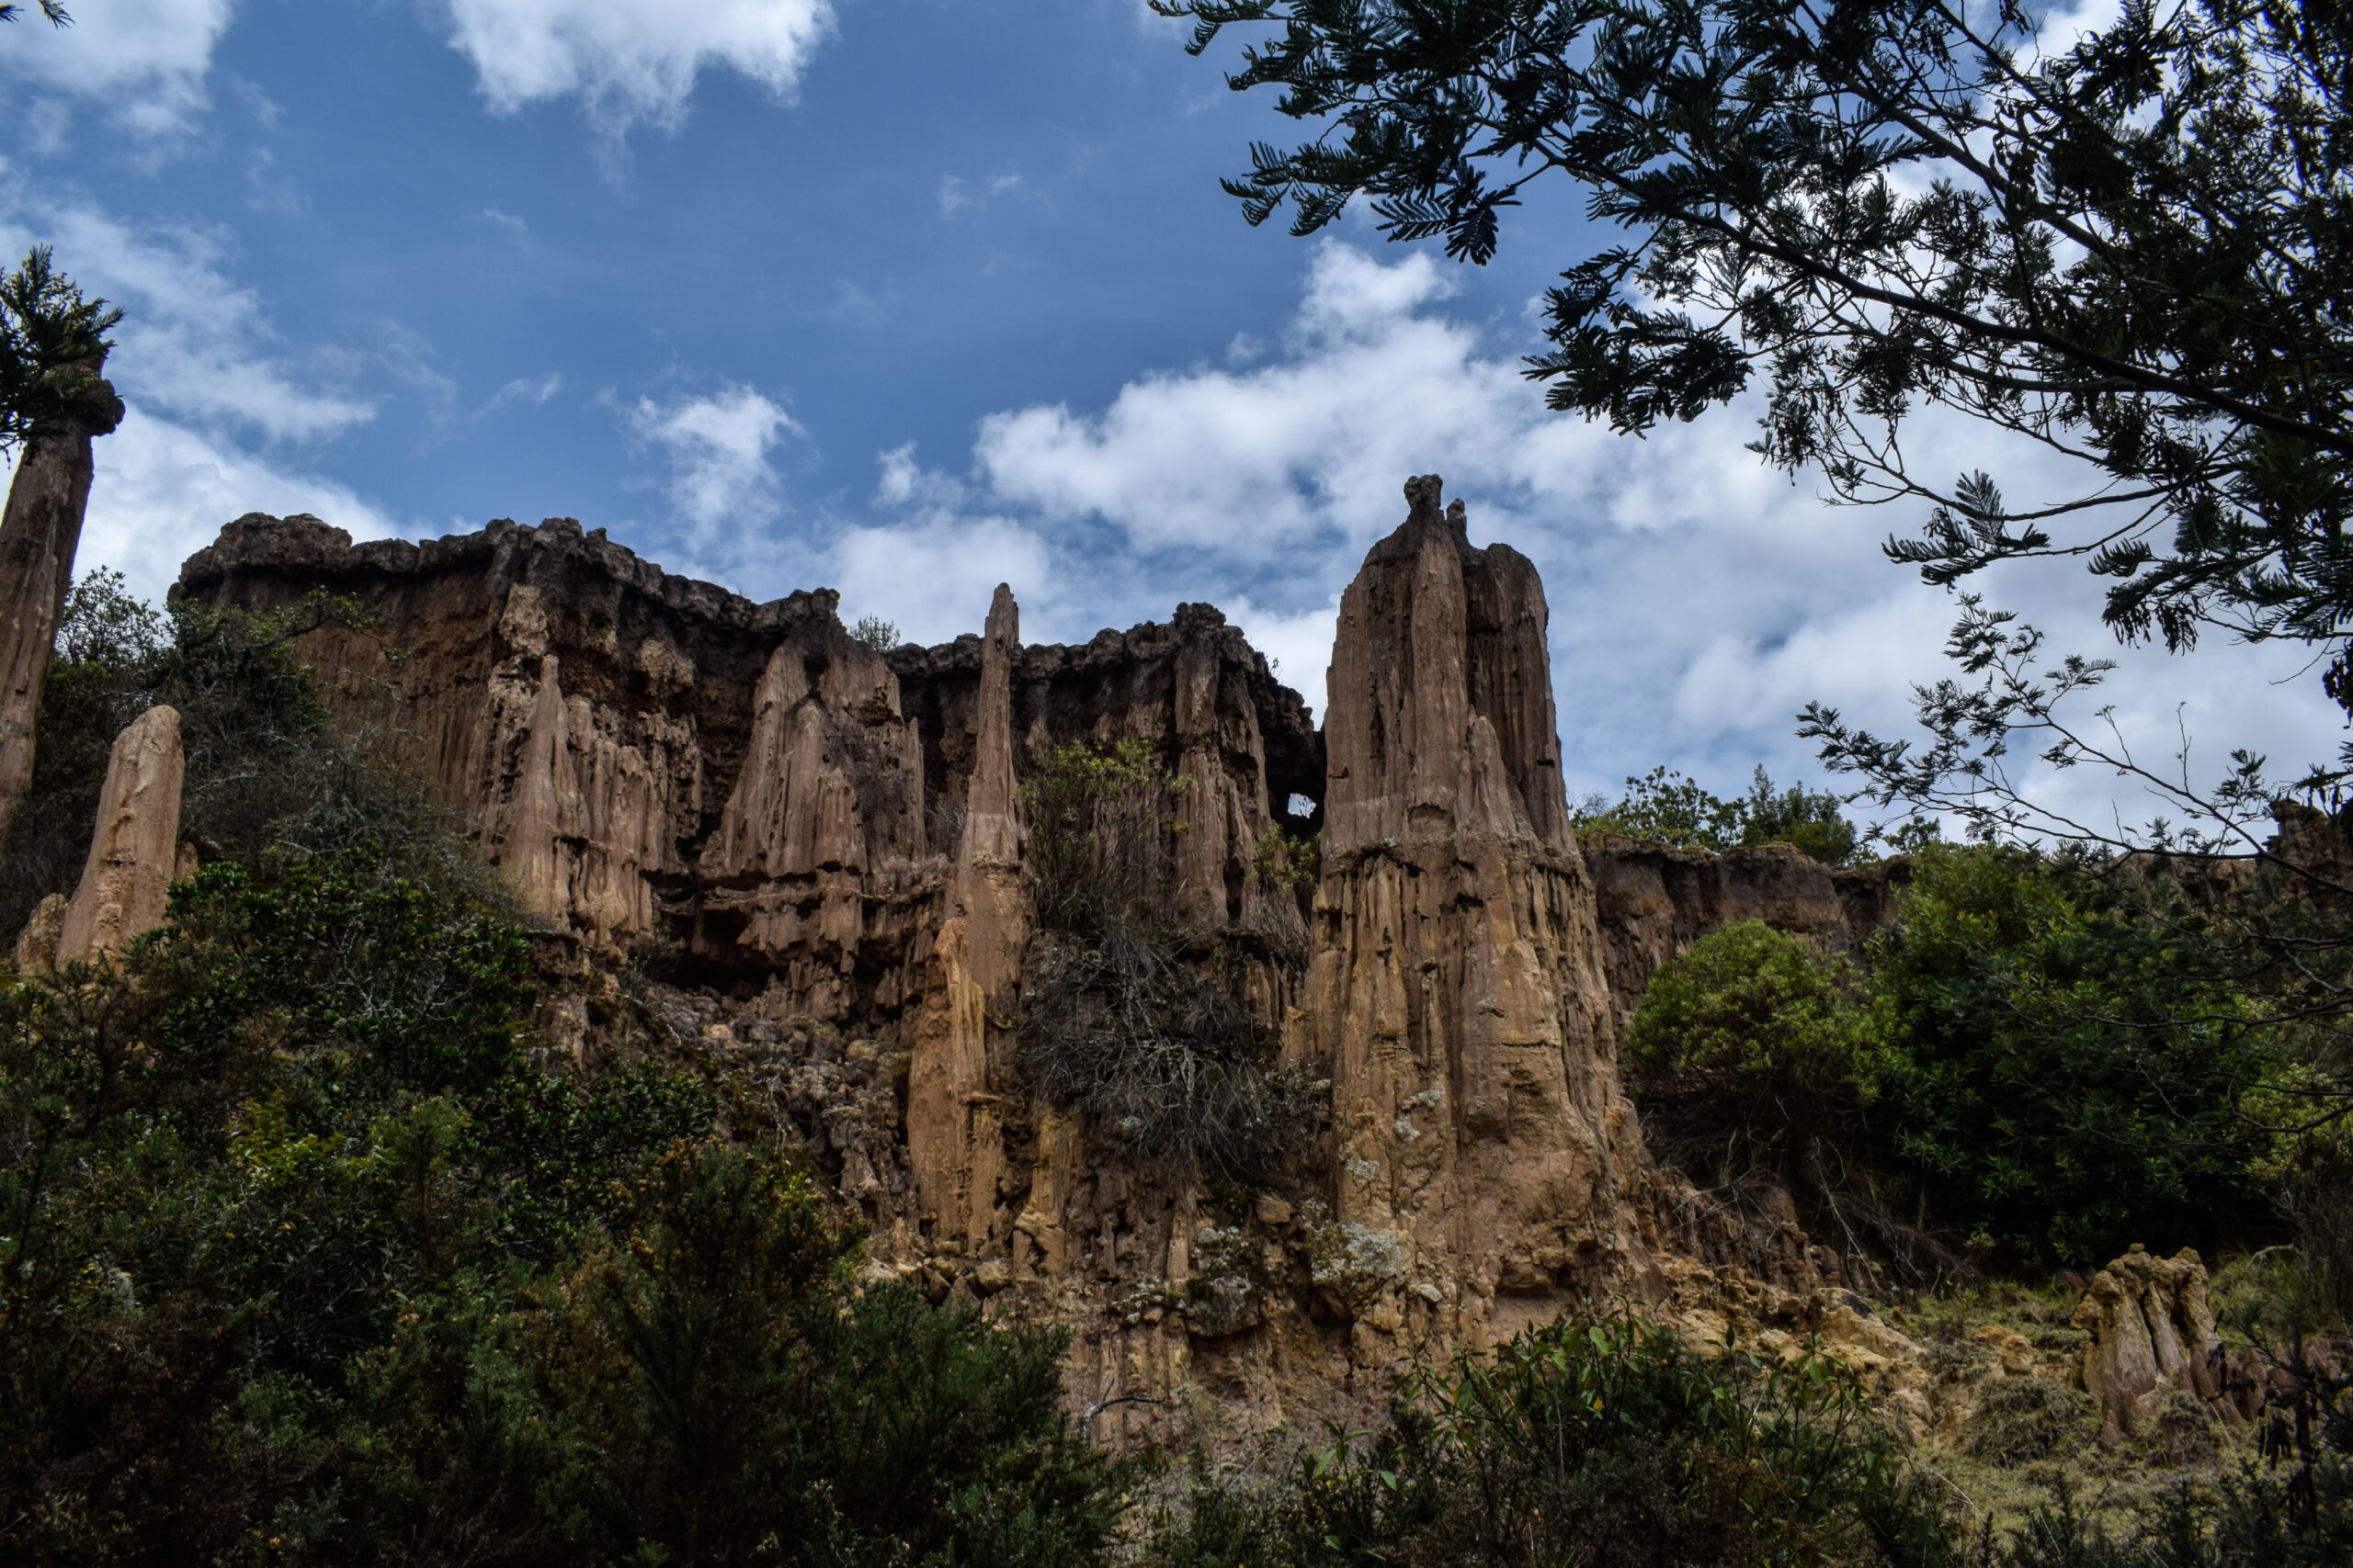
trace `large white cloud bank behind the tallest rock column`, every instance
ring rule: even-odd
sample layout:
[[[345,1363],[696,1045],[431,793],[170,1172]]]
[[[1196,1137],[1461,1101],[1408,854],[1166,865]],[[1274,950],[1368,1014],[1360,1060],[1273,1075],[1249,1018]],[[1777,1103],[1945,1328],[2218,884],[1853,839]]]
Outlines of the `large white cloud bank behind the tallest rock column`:
[[[1320,703],[1337,588],[1402,520],[1400,482],[1442,473],[1475,543],[1506,541],[1544,571],[1572,792],[1617,790],[1659,762],[1718,790],[1744,785],[1755,762],[1784,780],[1817,776],[1793,722],[1809,701],[1908,726],[1913,682],[1948,675],[1955,616],[1951,595],[1878,550],[1915,517],[1833,508],[1814,482],[1765,468],[1746,449],[1751,407],[1647,440],[1548,414],[1520,376],[1525,324],[1487,329],[1449,315],[1447,299],[1428,254],[1325,244],[1280,343],[1139,376],[1099,409],[995,414],[965,475],[887,454],[875,501],[906,520],[861,527],[859,559],[885,545],[920,559],[925,541],[946,548],[953,520],[986,517],[988,538],[1021,541],[1000,552],[1033,635],[1092,630],[1073,585],[1108,618],[1205,597]],[[2068,480],[2047,454],[1958,418],[1915,421],[1911,449],[1941,477],[1995,473],[2017,503]],[[866,571],[878,597],[913,602],[880,567]],[[2118,658],[2094,703],[2115,705],[2144,757],[2172,757],[2186,731],[2193,773],[2212,776],[2231,745],[2301,764],[2337,743],[2318,682],[2287,649],[2118,649],[2099,583],[2066,564],[2014,564],[1974,588],[2042,625],[2054,651]],[[976,595],[986,588],[965,597]],[[1033,595],[1042,616],[1028,614]],[[958,604],[941,635],[976,628],[976,609]],[[2146,816],[2113,778],[2042,788],[2075,811]]]

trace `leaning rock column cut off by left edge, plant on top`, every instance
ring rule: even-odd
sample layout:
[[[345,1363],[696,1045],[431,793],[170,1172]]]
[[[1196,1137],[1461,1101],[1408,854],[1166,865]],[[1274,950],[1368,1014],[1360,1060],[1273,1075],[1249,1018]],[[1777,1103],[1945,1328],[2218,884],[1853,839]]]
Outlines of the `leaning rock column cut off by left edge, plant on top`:
[[[89,505],[89,442],[122,423],[115,388],[99,364],[87,369],[73,414],[26,440],[0,515],[0,851],[33,783],[33,726]]]

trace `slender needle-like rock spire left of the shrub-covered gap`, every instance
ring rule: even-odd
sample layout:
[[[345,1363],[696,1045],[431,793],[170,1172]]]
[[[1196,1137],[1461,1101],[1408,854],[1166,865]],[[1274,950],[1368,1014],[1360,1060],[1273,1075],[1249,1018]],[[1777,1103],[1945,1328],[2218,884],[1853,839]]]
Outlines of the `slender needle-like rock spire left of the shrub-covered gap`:
[[[1014,783],[1012,668],[1019,651],[1021,609],[1000,583],[981,642],[965,837],[906,1084],[906,1154],[922,1218],[934,1239],[960,1241],[967,1253],[988,1248],[1005,1229],[998,1185],[1012,1037],[995,1018],[1012,1001],[1031,922]]]

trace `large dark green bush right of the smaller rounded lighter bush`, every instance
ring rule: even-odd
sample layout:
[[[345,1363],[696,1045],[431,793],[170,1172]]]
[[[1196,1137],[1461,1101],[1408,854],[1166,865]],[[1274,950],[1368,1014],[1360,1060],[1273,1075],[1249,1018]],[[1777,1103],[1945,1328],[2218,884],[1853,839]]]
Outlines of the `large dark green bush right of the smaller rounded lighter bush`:
[[[1871,947],[1894,1159],[1929,1213],[2024,1262],[2261,1213],[2238,1105],[2268,1070],[2219,954],[2092,907],[2009,849],[1929,849]]]

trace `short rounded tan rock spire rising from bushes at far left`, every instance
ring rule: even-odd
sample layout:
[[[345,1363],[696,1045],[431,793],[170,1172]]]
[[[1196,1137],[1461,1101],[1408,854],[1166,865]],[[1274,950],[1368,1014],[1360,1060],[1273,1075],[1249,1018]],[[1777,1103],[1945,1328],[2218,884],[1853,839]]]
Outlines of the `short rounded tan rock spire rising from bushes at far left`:
[[[148,708],[115,736],[82,884],[56,926],[56,961],[122,952],[162,924],[179,870],[179,710]]]

